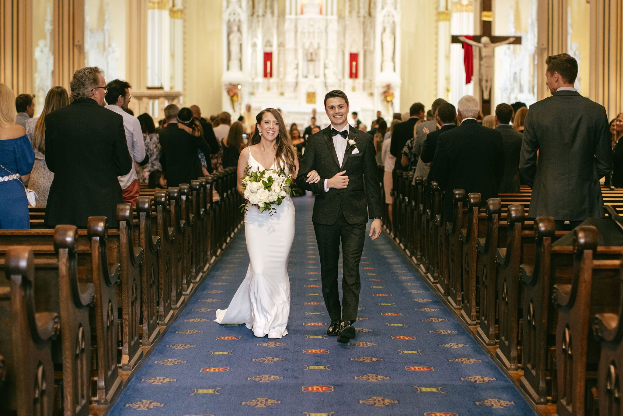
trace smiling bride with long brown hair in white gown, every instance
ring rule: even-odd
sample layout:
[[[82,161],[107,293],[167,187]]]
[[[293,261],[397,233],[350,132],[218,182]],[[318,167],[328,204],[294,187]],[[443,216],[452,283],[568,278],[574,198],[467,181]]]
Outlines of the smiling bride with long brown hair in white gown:
[[[242,192],[245,168],[280,171],[297,177],[298,158],[280,112],[267,108],[255,117],[257,128],[251,145],[240,153],[238,191]],[[315,171],[307,181],[320,180]],[[249,205],[244,216],[244,230],[249,251],[249,269],[227,309],[218,309],[214,322],[245,324],[256,337],[281,338],[288,334],[290,314],[290,279],[288,256],[294,239],[294,205],[286,196],[277,210],[260,213],[257,205]]]

